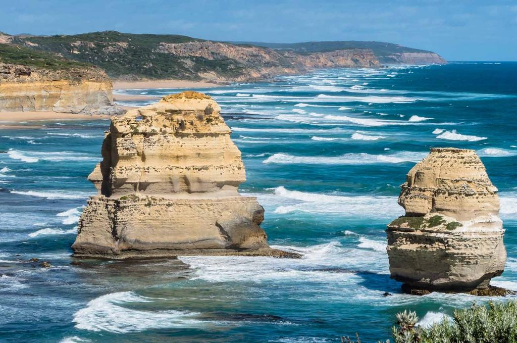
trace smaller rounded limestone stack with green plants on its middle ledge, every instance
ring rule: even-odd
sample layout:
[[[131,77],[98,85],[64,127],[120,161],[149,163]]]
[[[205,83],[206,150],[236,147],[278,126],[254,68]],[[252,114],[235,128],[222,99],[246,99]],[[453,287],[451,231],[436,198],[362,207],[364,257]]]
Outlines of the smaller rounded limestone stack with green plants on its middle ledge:
[[[476,153],[431,148],[406,180],[406,214],[386,230],[391,277],[410,293],[488,289],[504,270],[505,230],[497,188]]]

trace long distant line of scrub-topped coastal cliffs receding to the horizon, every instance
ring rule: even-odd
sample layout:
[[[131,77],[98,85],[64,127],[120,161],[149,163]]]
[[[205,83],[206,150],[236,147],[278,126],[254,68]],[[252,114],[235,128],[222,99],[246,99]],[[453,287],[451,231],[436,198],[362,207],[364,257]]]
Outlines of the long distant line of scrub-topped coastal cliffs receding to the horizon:
[[[372,41],[231,43],[116,31],[5,39],[98,66],[120,80],[254,81],[315,68],[445,63],[431,51]]]

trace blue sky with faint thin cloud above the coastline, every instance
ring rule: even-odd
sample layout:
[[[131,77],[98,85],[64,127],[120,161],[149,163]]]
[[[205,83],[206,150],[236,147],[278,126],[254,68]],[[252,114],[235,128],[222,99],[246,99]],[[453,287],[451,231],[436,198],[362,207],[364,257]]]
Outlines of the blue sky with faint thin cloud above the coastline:
[[[377,40],[450,61],[517,61],[517,0],[1,0],[0,31],[233,41]]]

